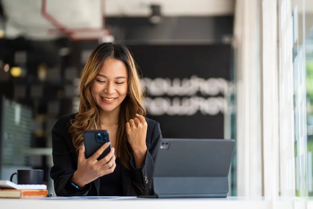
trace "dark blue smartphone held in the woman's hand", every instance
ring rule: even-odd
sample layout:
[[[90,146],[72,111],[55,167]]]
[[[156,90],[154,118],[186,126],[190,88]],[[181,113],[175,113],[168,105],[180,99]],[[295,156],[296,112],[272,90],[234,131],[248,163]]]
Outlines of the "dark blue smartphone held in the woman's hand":
[[[85,157],[90,158],[103,144],[110,141],[107,130],[86,130],[84,132]],[[104,158],[111,151],[111,144],[99,156],[98,160]]]

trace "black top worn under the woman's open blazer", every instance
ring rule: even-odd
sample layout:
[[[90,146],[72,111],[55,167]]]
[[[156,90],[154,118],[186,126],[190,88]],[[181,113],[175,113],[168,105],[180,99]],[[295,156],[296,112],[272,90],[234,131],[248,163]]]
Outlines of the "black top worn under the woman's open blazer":
[[[99,196],[124,196],[119,158],[116,158],[115,164],[113,173],[100,177]]]

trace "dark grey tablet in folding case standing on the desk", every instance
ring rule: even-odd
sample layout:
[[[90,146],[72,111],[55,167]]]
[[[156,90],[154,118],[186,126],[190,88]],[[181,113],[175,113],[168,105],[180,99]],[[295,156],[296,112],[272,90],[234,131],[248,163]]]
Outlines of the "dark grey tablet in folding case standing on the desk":
[[[161,139],[153,175],[157,197],[226,197],[234,148],[230,139]]]

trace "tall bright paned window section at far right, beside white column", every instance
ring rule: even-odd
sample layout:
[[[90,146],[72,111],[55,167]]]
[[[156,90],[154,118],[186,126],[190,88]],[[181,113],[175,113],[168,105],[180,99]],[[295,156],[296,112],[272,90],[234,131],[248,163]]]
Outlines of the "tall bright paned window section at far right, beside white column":
[[[306,196],[305,0],[279,0],[278,8],[280,195]]]

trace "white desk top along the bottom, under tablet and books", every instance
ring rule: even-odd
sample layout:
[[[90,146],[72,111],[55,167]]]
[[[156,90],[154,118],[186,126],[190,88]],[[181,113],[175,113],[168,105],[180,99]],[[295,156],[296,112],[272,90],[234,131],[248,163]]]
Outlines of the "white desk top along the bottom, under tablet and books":
[[[264,198],[228,197],[226,199],[0,199],[0,208],[23,209],[313,209],[313,200],[305,198],[279,198],[275,201]]]

